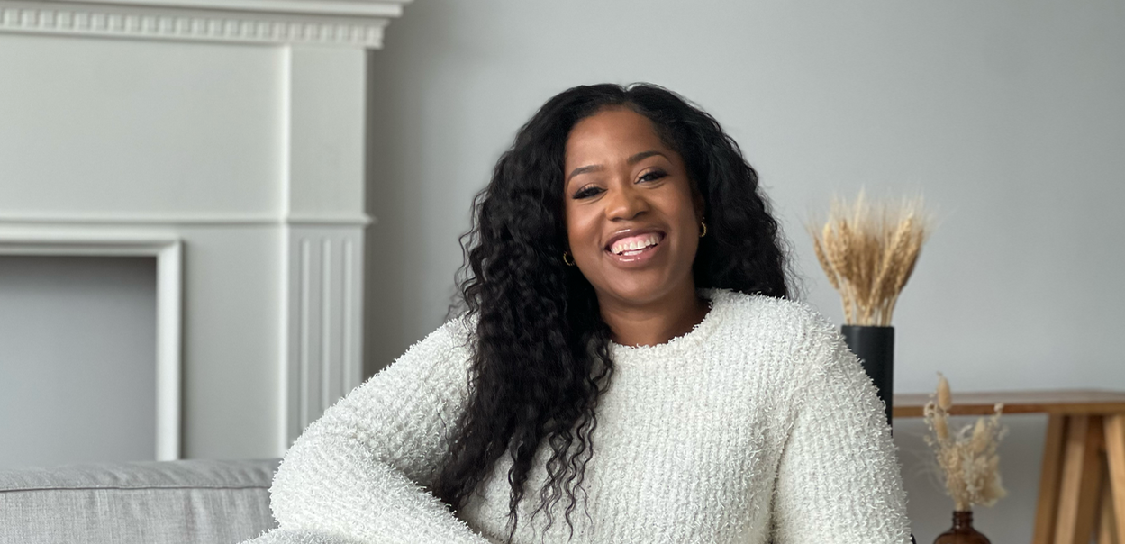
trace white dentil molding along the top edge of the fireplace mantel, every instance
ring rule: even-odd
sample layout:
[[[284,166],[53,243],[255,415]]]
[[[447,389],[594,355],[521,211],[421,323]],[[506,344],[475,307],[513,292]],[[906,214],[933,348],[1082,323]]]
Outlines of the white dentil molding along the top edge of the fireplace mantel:
[[[0,0],[0,31],[378,48],[411,0]]]

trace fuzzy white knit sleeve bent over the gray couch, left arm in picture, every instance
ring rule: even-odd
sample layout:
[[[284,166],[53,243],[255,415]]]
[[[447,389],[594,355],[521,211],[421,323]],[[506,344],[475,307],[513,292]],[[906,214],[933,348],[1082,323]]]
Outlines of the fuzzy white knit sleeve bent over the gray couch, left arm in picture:
[[[467,398],[460,332],[446,324],[308,426],[270,489],[278,531],[364,544],[490,542],[424,489]]]

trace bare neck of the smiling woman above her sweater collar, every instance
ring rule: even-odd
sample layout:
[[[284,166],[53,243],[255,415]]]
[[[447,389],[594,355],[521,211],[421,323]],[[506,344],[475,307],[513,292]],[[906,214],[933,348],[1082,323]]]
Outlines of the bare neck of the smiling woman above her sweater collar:
[[[613,332],[613,342],[627,346],[664,344],[700,324],[708,303],[695,293],[693,284],[645,303],[630,303],[598,297],[602,319]]]

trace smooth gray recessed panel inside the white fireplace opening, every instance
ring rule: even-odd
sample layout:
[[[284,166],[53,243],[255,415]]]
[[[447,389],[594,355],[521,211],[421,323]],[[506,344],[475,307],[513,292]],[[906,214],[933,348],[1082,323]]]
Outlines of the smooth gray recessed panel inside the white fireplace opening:
[[[156,260],[0,255],[0,468],[156,456]]]

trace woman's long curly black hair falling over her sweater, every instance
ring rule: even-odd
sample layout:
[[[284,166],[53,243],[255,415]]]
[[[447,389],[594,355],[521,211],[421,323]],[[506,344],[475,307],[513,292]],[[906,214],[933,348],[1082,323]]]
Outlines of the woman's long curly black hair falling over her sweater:
[[[570,129],[605,108],[629,108],[652,121],[680,153],[703,197],[708,235],[700,239],[696,288],[789,297],[785,246],[754,169],[713,117],[664,88],[638,83],[582,85],[547,101],[501,155],[474,202],[461,238],[461,308],[476,319],[467,410],[456,425],[433,492],[459,508],[507,454],[507,540],[540,444],[550,447],[546,484],[531,517],[564,496],[570,535],[575,491],[593,456],[595,408],[609,387],[610,328],[593,287],[564,264],[564,160]],[[530,523],[530,522],[529,522]]]

